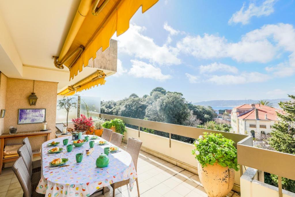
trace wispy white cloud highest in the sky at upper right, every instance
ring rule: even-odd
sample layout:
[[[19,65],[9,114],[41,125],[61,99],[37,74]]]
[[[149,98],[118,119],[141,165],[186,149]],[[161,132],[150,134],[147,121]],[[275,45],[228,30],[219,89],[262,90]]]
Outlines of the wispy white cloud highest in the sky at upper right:
[[[246,25],[250,22],[252,17],[268,16],[274,12],[273,5],[276,0],[266,0],[260,6],[256,6],[255,3],[250,3],[248,9],[245,9],[245,3],[242,8],[234,13],[228,24],[242,23]]]

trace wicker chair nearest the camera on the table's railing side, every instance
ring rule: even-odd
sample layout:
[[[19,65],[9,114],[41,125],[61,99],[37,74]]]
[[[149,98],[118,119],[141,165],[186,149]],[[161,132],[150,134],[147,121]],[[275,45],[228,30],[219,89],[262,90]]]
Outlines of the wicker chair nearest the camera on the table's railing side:
[[[138,159],[141,145],[142,145],[141,140],[136,139],[136,138],[131,138],[131,137],[128,138],[126,152],[128,152],[131,155],[133,163],[135,165],[135,170],[137,170],[137,159]],[[138,193],[138,197],[139,197],[140,195],[139,195],[139,188],[138,188],[138,180],[137,180],[137,178],[135,180],[136,180],[136,186],[137,186],[137,193]],[[124,185],[127,185],[127,184],[129,184],[129,179],[122,180],[117,183],[111,184],[111,187],[113,188],[113,197],[115,197],[115,189],[122,187]],[[103,194],[104,194],[104,190],[103,190]]]

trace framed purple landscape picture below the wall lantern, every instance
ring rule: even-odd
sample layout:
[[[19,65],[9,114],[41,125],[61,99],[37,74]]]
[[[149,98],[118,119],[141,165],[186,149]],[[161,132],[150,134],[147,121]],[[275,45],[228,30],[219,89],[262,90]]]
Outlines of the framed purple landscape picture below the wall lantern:
[[[34,124],[45,121],[46,109],[19,109],[17,124]]]

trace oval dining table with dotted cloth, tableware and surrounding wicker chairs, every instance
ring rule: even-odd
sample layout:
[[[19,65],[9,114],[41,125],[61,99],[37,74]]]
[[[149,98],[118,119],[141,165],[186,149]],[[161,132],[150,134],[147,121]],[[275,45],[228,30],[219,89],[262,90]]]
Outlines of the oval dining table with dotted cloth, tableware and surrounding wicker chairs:
[[[44,142],[40,160],[32,161],[29,139],[18,149],[19,158],[12,167],[25,197],[98,196],[128,185],[137,184],[137,159],[142,141],[128,138],[126,150],[120,148],[123,135],[104,128],[102,136],[68,136]]]

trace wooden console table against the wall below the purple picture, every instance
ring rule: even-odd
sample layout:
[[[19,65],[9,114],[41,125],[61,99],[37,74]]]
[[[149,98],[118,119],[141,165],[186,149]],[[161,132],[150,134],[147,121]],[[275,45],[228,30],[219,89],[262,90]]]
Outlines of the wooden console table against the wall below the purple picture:
[[[2,171],[2,166],[6,162],[14,162],[17,160],[19,157],[10,157],[10,158],[3,158],[3,151],[4,151],[4,146],[6,145],[7,140],[11,139],[19,139],[19,138],[26,138],[26,137],[37,137],[37,136],[47,136],[47,140],[50,140],[50,133],[51,129],[48,129],[48,131],[24,131],[24,132],[18,132],[18,133],[3,133],[0,136],[0,174]],[[33,151],[33,157],[39,157],[40,153],[39,150]]]

